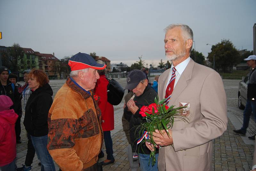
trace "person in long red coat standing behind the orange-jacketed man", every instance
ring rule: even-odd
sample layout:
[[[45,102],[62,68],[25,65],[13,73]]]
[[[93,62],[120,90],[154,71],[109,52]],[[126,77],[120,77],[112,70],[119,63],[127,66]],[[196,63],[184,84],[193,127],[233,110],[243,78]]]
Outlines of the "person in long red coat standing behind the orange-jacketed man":
[[[101,60],[96,62],[100,64],[105,64]],[[114,130],[114,108],[113,108],[113,105],[111,105],[108,102],[108,95],[107,95],[108,80],[105,76],[106,72],[107,72],[106,68],[104,70],[98,70],[100,79],[98,79],[97,84],[94,88],[94,93],[98,97],[100,97],[98,104],[99,104],[101,115],[102,115],[101,127],[103,130],[103,137],[104,137],[106,153],[107,153],[107,159],[101,162],[102,165],[107,165],[115,162],[115,159],[113,156],[113,142],[110,135],[110,131]],[[101,156],[103,157],[104,153]]]

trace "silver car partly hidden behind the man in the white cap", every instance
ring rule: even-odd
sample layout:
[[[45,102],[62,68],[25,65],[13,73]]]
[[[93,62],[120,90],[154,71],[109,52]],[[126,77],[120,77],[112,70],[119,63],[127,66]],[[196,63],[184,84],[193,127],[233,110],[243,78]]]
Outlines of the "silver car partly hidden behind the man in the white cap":
[[[249,83],[249,74],[244,78],[244,80],[239,82],[238,86],[238,108],[244,109],[247,100],[247,85]]]

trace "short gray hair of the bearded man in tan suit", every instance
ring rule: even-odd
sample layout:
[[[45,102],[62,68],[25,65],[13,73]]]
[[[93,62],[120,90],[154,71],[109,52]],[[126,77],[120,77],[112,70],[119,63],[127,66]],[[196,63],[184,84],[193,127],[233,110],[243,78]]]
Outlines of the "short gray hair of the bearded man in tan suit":
[[[180,27],[181,28],[182,36],[183,36],[185,41],[188,40],[188,39],[193,40],[193,31],[192,31],[192,29],[188,25],[185,25],[185,24],[171,24],[171,25],[167,26],[164,29],[164,32],[166,33],[166,32],[168,32],[169,30],[171,30],[175,27]]]

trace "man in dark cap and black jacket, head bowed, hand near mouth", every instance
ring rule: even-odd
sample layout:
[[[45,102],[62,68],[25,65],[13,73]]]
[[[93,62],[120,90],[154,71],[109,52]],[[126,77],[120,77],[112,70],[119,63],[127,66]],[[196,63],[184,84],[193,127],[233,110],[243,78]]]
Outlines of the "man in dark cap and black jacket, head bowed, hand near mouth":
[[[157,96],[156,91],[148,85],[148,79],[146,75],[140,70],[132,70],[129,72],[126,78],[127,85],[124,89],[132,90],[133,97],[127,102],[124,108],[124,117],[130,124],[130,138],[132,145],[132,152],[139,154],[140,170],[148,170],[148,167],[152,167],[152,164],[148,165],[150,158],[150,151],[146,147],[145,143],[141,147],[137,147],[137,141],[142,136],[140,135],[140,123],[146,122],[139,114],[142,106],[148,106],[154,103]],[[157,170],[157,157],[158,150],[156,150],[156,163],[150,170]]]

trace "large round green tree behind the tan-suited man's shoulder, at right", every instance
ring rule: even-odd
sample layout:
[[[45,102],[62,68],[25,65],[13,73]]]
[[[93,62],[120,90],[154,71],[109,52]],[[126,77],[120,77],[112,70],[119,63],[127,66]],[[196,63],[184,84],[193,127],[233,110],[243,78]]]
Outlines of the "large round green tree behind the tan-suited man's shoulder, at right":
[[[232,71],[233,65],[240,63],[239,52],[229,40],[212,45],[212,52],[208,53],[208,60],[213,63],[215,58],[215,69],[222,72]]]

